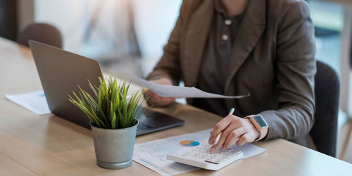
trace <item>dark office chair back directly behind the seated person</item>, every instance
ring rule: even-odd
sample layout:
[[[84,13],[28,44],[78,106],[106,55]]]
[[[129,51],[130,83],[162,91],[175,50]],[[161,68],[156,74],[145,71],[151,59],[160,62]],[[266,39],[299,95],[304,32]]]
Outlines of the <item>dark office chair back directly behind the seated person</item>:
[[[310,136],[317,151],[336,157],[340,81],[337,72],[320,61],[317,61],[314,92],[315,123]]]

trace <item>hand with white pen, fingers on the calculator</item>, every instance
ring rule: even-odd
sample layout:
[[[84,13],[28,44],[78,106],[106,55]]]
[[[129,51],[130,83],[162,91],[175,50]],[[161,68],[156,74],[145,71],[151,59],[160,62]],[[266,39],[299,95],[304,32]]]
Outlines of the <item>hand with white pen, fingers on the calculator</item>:
[[[217,144],[210,148],[210,153],[215,153],[222,147],[226,150],[238,138],[236,144],[241,146],[246,142],[253,142],[259,137],[259,132],[247,118],[227,115],[220,120],[210,131],[209,144],[214,144],[218,134],[222,132]]]

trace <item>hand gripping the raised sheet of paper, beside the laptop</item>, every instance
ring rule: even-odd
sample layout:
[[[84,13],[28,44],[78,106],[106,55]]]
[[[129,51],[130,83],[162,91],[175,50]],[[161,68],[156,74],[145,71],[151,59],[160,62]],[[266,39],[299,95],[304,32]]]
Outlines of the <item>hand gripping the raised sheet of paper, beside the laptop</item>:
[[[168,78],[162,77],[158,80],[151,80],[150,82],[156,83],[156,84],[166,84],[166,85],[172,85],[172,81]],[[172,97],[161,97],[158,96],[158,94],[151,92],[150,90],[147,90],[144,92],[147,96],[149,96],[148,103],[151,106],[156,106],[156,107],[163,107],[163,106],[168,106],[171,103],[175,101],[175,98]]]

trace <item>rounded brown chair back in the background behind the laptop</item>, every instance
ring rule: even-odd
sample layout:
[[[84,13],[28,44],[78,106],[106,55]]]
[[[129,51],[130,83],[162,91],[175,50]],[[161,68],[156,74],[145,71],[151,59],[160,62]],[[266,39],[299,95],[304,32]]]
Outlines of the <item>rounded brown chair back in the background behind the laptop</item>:
[[[63,48],[63,38],[61,32],[46,23],[32,23],[25,27],[25,30],[18,37],[17,42],[25,46],[29,46],[28,40],[35,40],[51,46],[56,46],[59,49]]]

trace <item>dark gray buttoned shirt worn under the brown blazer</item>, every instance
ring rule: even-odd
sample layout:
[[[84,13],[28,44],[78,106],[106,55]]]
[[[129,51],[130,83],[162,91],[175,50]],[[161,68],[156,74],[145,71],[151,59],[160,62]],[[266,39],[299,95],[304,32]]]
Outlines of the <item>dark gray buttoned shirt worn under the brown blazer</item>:
[[[197,88],[215,94],[224,94],[232,46],[237,34],[241,15],[227,16],[221,0],[214,0],[215,13],[201,60]],[[194,99],[194,106],[226,116],[225,99]]]

